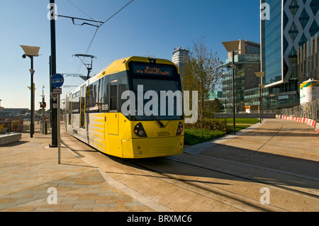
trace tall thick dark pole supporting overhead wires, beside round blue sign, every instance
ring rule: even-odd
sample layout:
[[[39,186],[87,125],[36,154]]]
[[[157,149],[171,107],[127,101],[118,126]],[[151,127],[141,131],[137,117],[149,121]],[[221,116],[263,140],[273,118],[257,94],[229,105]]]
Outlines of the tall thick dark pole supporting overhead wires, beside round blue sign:
[[[50,4],[55,4],[55,0],[50,0]],[[55,13],[55,11],[53,11]],[[51,18],[50,21],[50,30],[51,30],[51,77],[57,73],[57,57],[56,57],[56,43],[55,43],[55,15]],[[52,93],[54,87],[50,87],[50,93]],[[50,147],[57,147],[57,108],[55,108],[57,101],[51,101],[51,117],[52,117],[52,144]]]

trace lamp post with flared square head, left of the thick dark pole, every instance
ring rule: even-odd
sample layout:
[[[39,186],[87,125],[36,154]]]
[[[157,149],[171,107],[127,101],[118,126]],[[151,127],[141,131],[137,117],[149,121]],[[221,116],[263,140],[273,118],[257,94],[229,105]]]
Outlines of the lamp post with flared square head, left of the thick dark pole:
[[[34,108],[34,91],[35,86],[33,82],[33,75],[35,73],[35,70],[33,69],[33,57],[39,56],[39,50],[40,47],[35,46],[27,46],[27,45],[20,45],[24,51],[25,54],[22,55],[23,58],[30,57],[31,59],[31,120],[30,120],[30,137],[33,137],[34,134],[34,115],[35,115],[35,108]]]

